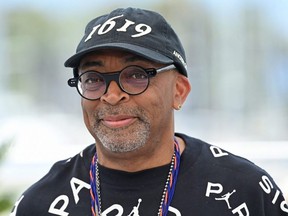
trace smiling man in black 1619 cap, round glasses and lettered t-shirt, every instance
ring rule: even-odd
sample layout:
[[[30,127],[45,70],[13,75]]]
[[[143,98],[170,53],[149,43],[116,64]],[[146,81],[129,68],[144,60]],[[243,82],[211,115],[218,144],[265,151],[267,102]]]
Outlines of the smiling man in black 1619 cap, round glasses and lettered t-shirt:
[[[190,84],[162,16],[127,8],[92,20],[65,66],[96,144],[57,162],[11,215],[288,215],[265,171],[174,132]]]

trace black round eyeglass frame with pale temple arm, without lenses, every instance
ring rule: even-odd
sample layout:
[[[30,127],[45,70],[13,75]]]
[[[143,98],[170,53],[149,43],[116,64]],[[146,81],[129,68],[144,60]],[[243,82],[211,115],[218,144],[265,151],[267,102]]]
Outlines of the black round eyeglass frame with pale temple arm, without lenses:
[[[147,83],[146,88],[145,88],[143,91],[141,91],[141,92],[139,92],[139,93],[136,93],[136,94],[133,94],[133,93],[127,92],[127,91],[122,87],[122,85],[121,85],[121,83],[120,83],[120,74],[121,74],[122,71],[124,71],[124,70],[125,70],[126,68],[128,68],[128,67],[138,67],[138,68],[141,68],[143,71],[146,72],[147,77],[148,77],[148,83]],[[98,72],[98,71],[93,71],[93,70],[86,71],[86,72],[84,72],[83,74],[89,73],[89,72],[95,72],[95,73],[100,74],[100,75],[104,78],[104,81],[105,81],[105,83],[106,83],[106,89],[105,89],[104,93],[103,93],[100,97],[98,97],[98,98],[96,98],[96,99],[87,98],[87,97],[85,97],[85,96],[80,92],[78,82],[80,82],[80,78],[81,78],[81,76],[82,76],[83,74],[79,75],[78,72],[75,71],[76,69],[74,69],[74,77],[73,77],[73,78],[70,78],[70,79],[68,80],[68,85],[69,85],[70,87],[75,87],[81,97],[83,97],[83,98],[85,98],[85,99],[87,99],[87,100],[91,100],[91,101],[98,100],[98,99],[101,98],[104,94],[106,94],[106,92],[107,92],[107,90],[108,90],[108,88],[109,88],[109,85],[110,85],[111,81],[115,81],[115,82],[117,83],[117,85],[119,86],[119,88],[120,88],[123,92],[125,92],[125,93],[127,93],[127,94],[129,94],[129,95],[139,95],[139,94],[142,94],[143,92],[145,92],[145,91],[147,90],[147,88],[149,87],[149,84],[150,84],[150,78],[151,78],[151,77],[155,77],[158,73],[165,72],[165,71],[169,71],[169,70],[173,70],[173,69],[176,69],[176,67],[175,67],[174,64],[166,65],[166,66],[161,67],[161,68],[158,68],[158,69],[156,69],[156,68],[143,68],[143,67],[138,66],[138,65],[129,65],[129,66],[123,68],[123,69],[120,70],[120,71],[114,71],[114,72],[108,72],[108,73],[100,73],[100,72]]]

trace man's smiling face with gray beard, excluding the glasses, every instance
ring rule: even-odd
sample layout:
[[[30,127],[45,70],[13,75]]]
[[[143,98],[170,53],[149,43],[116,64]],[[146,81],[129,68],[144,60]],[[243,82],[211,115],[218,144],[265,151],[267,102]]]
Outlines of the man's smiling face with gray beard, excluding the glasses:
[[[109,50],[85,56],[79,73],[115,72],[129,65],[156,69],[163,66],[128,52]],[[157,74],[140,95],[125,93],[112,81],[98,100],[82,99],[84,121],[96,142],[112,152],[131,152],[145,146],[153,148],[163,137],[173,135],[177,74],[175,71]]]

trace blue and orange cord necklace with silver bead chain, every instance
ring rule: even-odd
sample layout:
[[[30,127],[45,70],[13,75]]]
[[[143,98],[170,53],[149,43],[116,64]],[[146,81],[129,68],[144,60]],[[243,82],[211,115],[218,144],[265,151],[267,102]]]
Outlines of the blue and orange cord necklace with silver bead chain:
[[[180,167],[180,148],[176,138],[174,138],[174,154],[171,159],[168,177],[161,197],[161,202],[157,214],[158,216],[166,216],[168,213],[168,209],[172,201],[176,187],[179,167]],[[97,152],[95,152],[95,155],[92,158],[89,175],[91,185],[90,197],[91,197],[92,216],[101,216],[100,179],[99,179]]]

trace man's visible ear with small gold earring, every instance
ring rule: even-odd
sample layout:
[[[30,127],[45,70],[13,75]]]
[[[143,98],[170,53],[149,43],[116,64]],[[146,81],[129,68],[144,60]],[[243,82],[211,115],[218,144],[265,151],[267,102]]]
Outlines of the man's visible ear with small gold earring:
[[[180,110],[184,104],[189,92],[191,91],[191,85],[187,77],[177,74],[175,82],[175,94],[173,101],[173,108]]]

